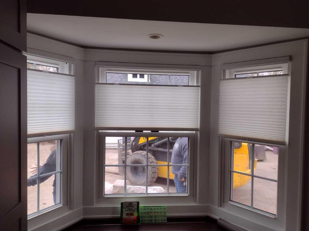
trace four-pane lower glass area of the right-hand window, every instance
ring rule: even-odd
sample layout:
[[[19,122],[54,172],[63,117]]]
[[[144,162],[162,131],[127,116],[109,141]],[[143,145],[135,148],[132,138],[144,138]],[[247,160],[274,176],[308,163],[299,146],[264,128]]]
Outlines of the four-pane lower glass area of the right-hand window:
[[[276,215],[279,148],[239,141],[229,142],[229,200],[253,210]]]

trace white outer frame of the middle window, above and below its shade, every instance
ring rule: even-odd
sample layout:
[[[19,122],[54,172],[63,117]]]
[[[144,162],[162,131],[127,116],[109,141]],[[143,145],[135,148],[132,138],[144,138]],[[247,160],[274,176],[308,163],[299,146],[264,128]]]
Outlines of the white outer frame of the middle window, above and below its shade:
[[[188,69],[187,69],[188,68]],[[96,69],[95,69],[95,82],[96,83],[105,83],[106,81],[106,72],[114,72],[114,73],[145,73],[145,74],[163,74],[166,75],[167,73],[171,75],[188,75],[189,74],[189,85],[195,85],[195,86],[200,86],[200,81],[201,81],[201,69],[197,66],[181,66],[181,65],[154,65],[154,64],[143,64],[143,63],[107,63],[107,62],[96,62]],[[160,85],[164,86],[164,85]],[[168,85],[167,85],[168,86]],[[114,132],[118,131],[120,128],[115,128],[111,129],[108,132]],[[192,158],[194,158],[194,177],[191,182],[193,182],[193,189],[190,189],[190,195],[187,196],[177,196],[177,195],[169,195],[169,196],[163,196],[163,195],[143,195],[140,197],[136,197],[136,195],[132,196],[126,196],[126,197],[104,197],[103,196],[103,187],[99,188],[99,175],[101,172],[99,172],[100,166],[102,163],[102,157],[100,158],[100,151],[99,149],[102,148],[102,144],[99,142],[99,128],[96,129],[95,131],[95,192],[94,192],[94,204],[96,206],[105,206],[106,204],[109,204],[111,206],[118,206],[120,202],[123,202],[124,198],[130,200],[137,200],[140,201],[140,203],[143,204],[152,204],[152,205],[196,205],[198,202],[198,160],[199,160],[199,132],[195,131],[194,132],[194,155],[191,155]],[[122,131],[132,131],[132,130],[138,130],[138,131],[167,131],[170,132],[171,129],[166,129],[166,128],[121,128]],[[181,130],[183,132],[188,131],[188,129]],[[176,131],[176,132],[180,132]],[[161,132],[160,132],[161,133]],[[111,134],[111,133],[109,133]],[[109,135],[111,136],[111,135]],[[117,135],[114,136],[121,136],[120,133],[117,133]],[[135,136],[134,135],[129,135],[128,133],[125,133],[123,135],[125,136]],[[151,132],[151,136],[154,136],[154,132]],[[171,136],[171,135],[169,135]],[[191,174],[193,176],[193,174]],[[102,175],[101,175],[102,178]],[[103,181],[102,181],[103,182]],[[102,193],[99,193],[102,192]],[[192,194],[191,194],[192,193]]]

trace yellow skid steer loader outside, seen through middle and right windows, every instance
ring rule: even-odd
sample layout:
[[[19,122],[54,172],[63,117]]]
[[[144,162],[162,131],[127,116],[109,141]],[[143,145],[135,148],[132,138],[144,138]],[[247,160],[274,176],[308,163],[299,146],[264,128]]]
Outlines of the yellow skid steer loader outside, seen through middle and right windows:
[[[149,137],[148,138],[148,164],[167,164],[167,142],[169,142],[169,160],[171,160],[172,150],[178,137]],[[234,142],[234,170],[244,173],[251,173],[252,145],[247,143]],[[132,137],[127,139],[127,164],[146,164],[146,137]],[[118,140],[118,163],[125,163],[125,139]],[[171,164],[171,163],[170,163]],[[256,167],[256,159],[254,168]],[[119,174],[124,175],[124,167],[119,167]],[[167,176],[167,166],[148,167],[147,184],[151,185],[157,177],[174,180],[174,174],[169,170]],[[128,166],[127,179],[133,185],[146,185],[146,167]],[[251,176],[234,173],[233,188],[239,188],[248,183]]]

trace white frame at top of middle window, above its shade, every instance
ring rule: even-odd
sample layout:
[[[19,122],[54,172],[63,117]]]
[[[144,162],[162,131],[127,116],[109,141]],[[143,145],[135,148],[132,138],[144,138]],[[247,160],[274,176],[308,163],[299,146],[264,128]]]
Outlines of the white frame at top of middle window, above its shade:
[[[145,79],[147,79],[147,84],[150,84],[149,76],[150,75],[168,75],[168,84],[170,83],[171,75],[189,75],[189,84],[188,85],[200,85],[197,76],[199,71],[189,71],[189,70],[158,70],[158,69],[147,69],[147,68],[120,68],[120,67],[99,67],[99,83],[106,83],[106,73],[124,73],[127,75],[126,83],[128,81],[132,82],[142,82],[137,79],[128,80],[128,74],[144,74]],[[144,82],[144,81],[143,81]],[[146,81],[145,81],[146,82]]]

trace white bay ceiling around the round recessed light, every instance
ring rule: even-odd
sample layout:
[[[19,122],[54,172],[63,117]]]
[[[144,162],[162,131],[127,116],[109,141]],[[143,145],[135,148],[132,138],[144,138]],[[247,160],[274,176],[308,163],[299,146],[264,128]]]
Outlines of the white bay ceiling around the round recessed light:
[[[221,51],[309,36],[309,29],[27,14],[27,30],[88,47]],[[147,34],[163,34],[150,39]]]

